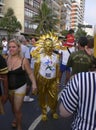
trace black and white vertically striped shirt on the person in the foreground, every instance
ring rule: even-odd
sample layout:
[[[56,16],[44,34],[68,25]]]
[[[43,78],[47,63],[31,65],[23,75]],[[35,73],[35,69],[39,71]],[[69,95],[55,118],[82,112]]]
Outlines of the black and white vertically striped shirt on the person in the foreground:
[[[60,100],[67,111],[76,113],[72,130],[96,130],[96,72],[75,75]]]

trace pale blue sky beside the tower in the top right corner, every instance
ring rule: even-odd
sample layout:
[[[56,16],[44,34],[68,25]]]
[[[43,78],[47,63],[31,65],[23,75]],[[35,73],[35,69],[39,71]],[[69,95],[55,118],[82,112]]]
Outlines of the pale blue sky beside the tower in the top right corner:
[[[96,24],[96,0],[85,0],[85,22]]]

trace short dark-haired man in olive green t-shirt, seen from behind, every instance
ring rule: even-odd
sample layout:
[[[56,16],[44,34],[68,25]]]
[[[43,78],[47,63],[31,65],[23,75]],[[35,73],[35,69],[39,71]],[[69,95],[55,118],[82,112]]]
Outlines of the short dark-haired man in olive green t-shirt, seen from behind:
[[[87,53],[88,42],[86,37],[80,37],[78,40],[79,50],[71,53],[68,58],[67,66],[72,67],[72,75],[88,71],[92,64],[91,56]]]

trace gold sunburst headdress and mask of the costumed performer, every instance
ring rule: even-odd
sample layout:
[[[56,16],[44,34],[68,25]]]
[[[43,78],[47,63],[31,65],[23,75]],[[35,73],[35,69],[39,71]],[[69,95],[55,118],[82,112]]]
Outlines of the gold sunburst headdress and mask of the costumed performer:
[[[58,36],[54,33],[49,32],[48,34],[40,36],[39,40],[36,41],[35,49],[36,54],[45,53],[46,55],[51,55],[53,50],[58,50],[61,48],[61,42],[58,40]]]

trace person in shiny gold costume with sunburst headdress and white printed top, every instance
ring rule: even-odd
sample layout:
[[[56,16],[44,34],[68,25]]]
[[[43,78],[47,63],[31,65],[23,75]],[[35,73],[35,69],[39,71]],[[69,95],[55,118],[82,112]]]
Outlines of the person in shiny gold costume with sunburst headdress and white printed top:
[[[38,41],[42,51],[34,66],[38,86],[38,99],[42,111],[42,120],[47,120],[47,107],[50,108],[53,119],[58,119],[56,113],[58,104],[59,55],[53,53],[58,42],[57,37],[44,35]],[[58,44],[58,43],[57,43]]]

